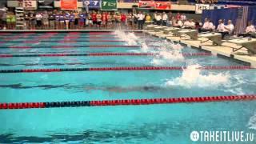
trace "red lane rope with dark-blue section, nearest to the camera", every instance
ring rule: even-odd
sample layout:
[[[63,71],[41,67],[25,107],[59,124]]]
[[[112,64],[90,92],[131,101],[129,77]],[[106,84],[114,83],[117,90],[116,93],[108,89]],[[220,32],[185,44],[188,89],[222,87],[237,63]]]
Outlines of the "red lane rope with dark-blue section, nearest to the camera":
[[[210,97],[189,97],[189,98],[146,98],[146,99],[119,99],[102,101],[72,101],[72,102],[16,102],[0,103],[0,110],[14,109],[42,109],[80,106],[139,106],[156,104],[178,104],[178,103],[198,103],[198,102],[238,102],[254,101],[256,95],[230,95],[230,96],[210,96]]]

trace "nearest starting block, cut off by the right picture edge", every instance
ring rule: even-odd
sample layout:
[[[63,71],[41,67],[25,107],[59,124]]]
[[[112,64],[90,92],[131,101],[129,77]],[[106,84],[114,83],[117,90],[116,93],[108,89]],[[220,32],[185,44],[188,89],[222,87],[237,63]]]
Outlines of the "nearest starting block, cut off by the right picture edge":
[[[233,52],[246,48],[249,53],[256,54],[256,38],[236,38],[228,42],[235,43],[241,47],[233,48]]]

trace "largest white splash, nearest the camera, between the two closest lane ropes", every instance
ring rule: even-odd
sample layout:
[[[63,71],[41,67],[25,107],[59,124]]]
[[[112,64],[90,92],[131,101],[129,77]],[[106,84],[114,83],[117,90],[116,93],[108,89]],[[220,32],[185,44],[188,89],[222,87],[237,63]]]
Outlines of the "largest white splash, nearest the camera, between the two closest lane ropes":
[[[191,88],[194,86],[203,88],[212,88],[213,86],[224,86],[226,83],[230,82],[230,74],[206,74],[203,75],[201,70],[198,69],[199,65],[188,66],[182,72],[182,76],[179,78],[174,78],[168,80],[166,86],[182,86],[186,88]]]

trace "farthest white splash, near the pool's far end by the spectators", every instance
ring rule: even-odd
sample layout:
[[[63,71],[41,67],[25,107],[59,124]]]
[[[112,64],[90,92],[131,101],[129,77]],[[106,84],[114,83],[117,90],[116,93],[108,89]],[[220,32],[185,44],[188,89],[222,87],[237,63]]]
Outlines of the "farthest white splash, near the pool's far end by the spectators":
[[[125,41],[126,45],[128,46],[138,45],[138,43],[136,42],[138,40],[138,37],[134,33],[126,34],[124,31],[115,30],[114,34],[117,34],[118,38],[120,38],[122,41]]]

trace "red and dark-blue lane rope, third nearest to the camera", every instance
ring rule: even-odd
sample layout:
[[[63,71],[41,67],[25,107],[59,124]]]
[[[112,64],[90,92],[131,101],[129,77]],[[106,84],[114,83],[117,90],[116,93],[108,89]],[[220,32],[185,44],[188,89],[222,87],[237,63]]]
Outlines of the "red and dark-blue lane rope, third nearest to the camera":
[[[11,57],[73,57],[73,56],[153,56],[157,53],[86,53],[86,54],[0,54],[0,58]],[[183,53],[183,56],[211,56],[210,53]]]

